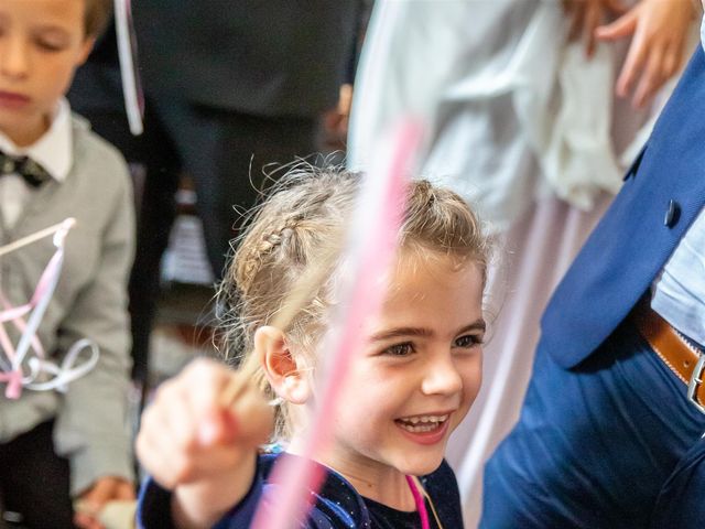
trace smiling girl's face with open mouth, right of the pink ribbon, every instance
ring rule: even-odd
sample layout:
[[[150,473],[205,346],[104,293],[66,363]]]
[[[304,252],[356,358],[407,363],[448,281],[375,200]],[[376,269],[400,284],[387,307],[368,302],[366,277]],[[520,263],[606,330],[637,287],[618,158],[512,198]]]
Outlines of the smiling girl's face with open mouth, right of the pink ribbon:
[[[403,256],[352,363],[323,463],[357,487],[436,469],[480,387],[482,277],[468,262]],[[359,490],[373,497],[373,490]]]

